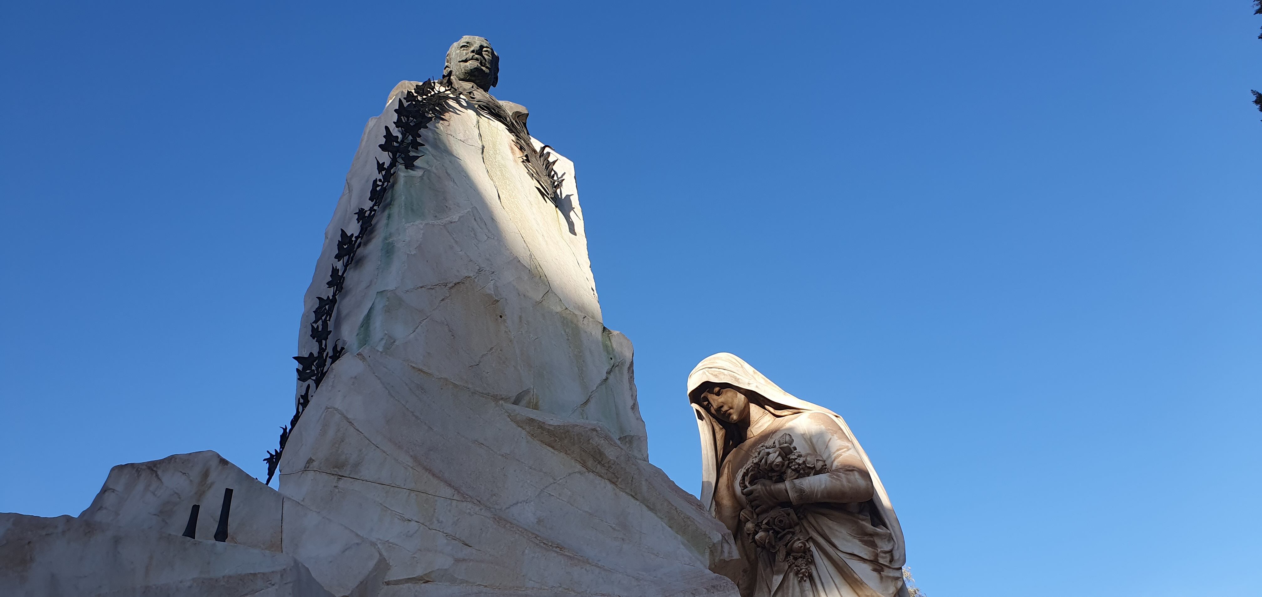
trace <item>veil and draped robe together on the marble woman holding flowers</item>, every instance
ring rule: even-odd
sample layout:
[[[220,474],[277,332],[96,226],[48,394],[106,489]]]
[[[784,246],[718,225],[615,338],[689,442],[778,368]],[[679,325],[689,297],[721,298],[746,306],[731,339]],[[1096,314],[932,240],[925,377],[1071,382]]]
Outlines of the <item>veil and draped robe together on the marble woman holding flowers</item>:
[[[731,446],[723,424],[700,405],[692,404],[702,443],[702,504],[732,530],[748,563],[740,574],[724,570],[737,581],[741,594],[745,597],[806,594],[905,597],[907,589],[902,582],[905,562],[902,526],[881,483],[881,477],[846,424],[846,419],[829,409],[789,394],[745,360],[729,352],[711,355],[693,369],[688,375],[688,395],[693,396],[694,391],[707,382],[729,384],[750,390],[755,394],[751,401],[777,417],[775,424],[758,433],[760,437],[740,446]],[[835,476],[834,478],[822,476],[819,480],[801,478],[789,483],[790,499],[801,504],[799,511],[803,514],[803,526],[810,533],[814,565],[813,579],[809,583],[800,583],[794,574],[784,574],[784,570],[777,573],[770,560],[765,563],[766,570],[760,569],[756,559],[757,548],[745,536],[740,520],[745,496],[736,487],[734,473],[741,470],[743,462],[737,463],[733,457],[747,461],[750,452],[776,437],[774,435],[777,433],[776,429],[779,433],[790,433],[799,451],[814,452],[825,458],[830,472],[835,471],[833,464],[838,458],[847,466],[857,459],[867,470],[873,488],[870,501],[844,504],[827,500],[829,496],[835,497],[832,490],[837,487],[830,487]],[[722,470],[728,471],[721,475]]]

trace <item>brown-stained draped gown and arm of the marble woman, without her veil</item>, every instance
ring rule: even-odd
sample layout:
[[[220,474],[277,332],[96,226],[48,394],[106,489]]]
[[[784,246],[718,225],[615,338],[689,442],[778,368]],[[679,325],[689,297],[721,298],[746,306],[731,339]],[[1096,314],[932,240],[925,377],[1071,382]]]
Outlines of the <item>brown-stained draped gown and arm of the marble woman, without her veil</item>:
[[[751,453],[787,433],[800,452],[828,463],[828,472],[786,481],[789,496],[810,535],[811,576],[799,581],[784,559],[758,549],[742,526],[740,512],[750,505],[738,486],[740,471]],[[747,597],[890,597],[902,587],[893,533],[871,502],[844,504],[856,492],[871,495],[871,481],[853,443],[823,413],[776,418],[767,429],[732,449],[719,467],[714,515],[732,530],[747,568],[738,584]]]

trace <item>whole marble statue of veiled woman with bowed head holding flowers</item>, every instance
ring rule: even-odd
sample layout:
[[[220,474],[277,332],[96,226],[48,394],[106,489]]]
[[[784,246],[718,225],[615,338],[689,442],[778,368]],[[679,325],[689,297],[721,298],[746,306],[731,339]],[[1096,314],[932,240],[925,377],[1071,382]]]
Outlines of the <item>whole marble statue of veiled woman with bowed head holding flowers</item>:
[[[895,597],[902,529],[846,420],[721,352],[688,376],[702,504],[745,560],[742,597]]]

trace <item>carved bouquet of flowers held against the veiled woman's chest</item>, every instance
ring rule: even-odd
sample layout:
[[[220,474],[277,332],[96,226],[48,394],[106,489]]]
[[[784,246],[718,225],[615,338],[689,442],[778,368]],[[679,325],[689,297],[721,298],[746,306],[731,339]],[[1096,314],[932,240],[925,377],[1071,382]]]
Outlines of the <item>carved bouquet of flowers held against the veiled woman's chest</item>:
[[[785,433],[775,442],[758,446],[750,462],[741,468],[740,488],[761,482],[782,483],[795,478],[828,472],[828,463],[817,454],[803,453],[793,444],[793,435]],[[745,509],[745,534],[758,549],[775,554],[776,560],[789,562],[789,568],[799,579],[810,578],[814,558],[810,554],[810,535],[800,528],[796,507]]]

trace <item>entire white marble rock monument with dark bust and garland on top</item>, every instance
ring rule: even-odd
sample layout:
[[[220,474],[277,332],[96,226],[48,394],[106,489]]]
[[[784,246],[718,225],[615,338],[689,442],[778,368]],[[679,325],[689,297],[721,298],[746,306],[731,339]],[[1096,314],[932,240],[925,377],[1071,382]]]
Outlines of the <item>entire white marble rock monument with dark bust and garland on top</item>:
[[[0,517],[0,594],[737,594],[731,533],[647,462],[573,164],[487,93],[497,63],[462,38],[365,127],[279,492],[213,452],[115,467],[77,519]]]

